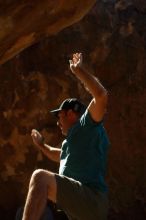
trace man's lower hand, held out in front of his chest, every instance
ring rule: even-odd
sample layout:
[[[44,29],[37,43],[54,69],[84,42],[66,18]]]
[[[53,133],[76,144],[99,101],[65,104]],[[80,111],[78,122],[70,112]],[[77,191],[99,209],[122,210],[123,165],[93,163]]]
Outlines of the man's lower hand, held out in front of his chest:
[[[36,129],[32,130],[31,137],[32,137],[33,143],[37,147],[39,147],[39,148],[43,147],[43,145],[44,145],[44,138]]]

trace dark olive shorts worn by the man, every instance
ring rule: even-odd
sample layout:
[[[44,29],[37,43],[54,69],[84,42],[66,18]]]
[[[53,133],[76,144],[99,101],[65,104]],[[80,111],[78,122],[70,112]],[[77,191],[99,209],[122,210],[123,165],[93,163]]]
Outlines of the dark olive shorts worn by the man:
[[[79,181],[57,175],[57,205],[71,220],[106,220],[108,199]]]

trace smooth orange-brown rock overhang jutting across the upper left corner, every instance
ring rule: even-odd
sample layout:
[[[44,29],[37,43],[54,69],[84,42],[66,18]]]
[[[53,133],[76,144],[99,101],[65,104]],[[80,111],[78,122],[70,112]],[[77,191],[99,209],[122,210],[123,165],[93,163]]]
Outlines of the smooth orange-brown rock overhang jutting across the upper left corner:
[[[0,1],[0,64],[77,22],[95,0]]]

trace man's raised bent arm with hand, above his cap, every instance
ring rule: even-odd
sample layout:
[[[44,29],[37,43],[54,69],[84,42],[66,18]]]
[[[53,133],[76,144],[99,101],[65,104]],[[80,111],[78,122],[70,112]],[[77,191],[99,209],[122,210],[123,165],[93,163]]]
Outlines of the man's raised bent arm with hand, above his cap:
[[[70,68],[74,75],[84,84],[84,87],[93,96],[92,101],[88,106],[88,110],[94,121],[102,120],[106,111],[107,91],[100,81],[82,66],[82,54],[76,53],[73,59],[70,60]]]

